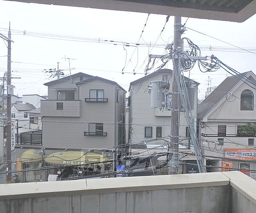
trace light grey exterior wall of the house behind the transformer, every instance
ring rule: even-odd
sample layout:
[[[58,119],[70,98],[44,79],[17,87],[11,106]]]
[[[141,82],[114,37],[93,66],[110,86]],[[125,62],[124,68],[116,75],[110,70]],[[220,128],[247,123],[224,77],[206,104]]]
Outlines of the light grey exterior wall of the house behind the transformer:
[[[162,127],[162,136],[167,136],[171,134],[171,111],[166,111],[165,109],[158,109],[151,107],[151,95],[145,90],[150,85],[150,81],[157,81],[163,78],[167,72],[160,72],[154,76],[145,77],[136,83],[132,83],[130,90],[130,139],[131,143],[137,143],[144,140],[149,140],[156,138],[156,127]],[[168,79],[170,85],[170,92],[172,92],[172,75],[168,74]],[[142,84],[141,84],[142,83]],[[140,86],[141,85],[141,86]],[[192,110],[192,115],[195,116],[196,121],[196,109],[197,109],[197,92],[195,92],[194,110]],[[145,138],[145,127],[153,127],[152,138]],[[180,113],[180,132],[182,136],[186,136],[186,119],[183,112]],[[154,141],[150,144],[163,144],[164,141]],[[184,140],[183,143],[188,143],[188,140]]]

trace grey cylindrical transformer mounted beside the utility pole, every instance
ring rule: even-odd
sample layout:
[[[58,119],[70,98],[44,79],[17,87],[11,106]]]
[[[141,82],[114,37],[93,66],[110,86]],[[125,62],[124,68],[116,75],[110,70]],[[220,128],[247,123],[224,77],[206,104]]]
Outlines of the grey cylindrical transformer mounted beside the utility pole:
[[[151,107],[165,106],[166,81],[151,81]]]

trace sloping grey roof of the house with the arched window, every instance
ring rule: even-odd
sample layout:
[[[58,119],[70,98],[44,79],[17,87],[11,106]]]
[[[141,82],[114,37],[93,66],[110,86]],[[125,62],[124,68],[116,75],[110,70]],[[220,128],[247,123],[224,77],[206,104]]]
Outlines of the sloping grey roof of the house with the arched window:
[[[239,74],[227,77],[198,105],[198,118],[204,118],[204,116],[211,111],[222,98],[224,98],[239,82],[242,82],[241,79],[244,78],[244,75],[248,77],[250,74],[253,74],[253,72],[249,71],[241,74],[242,75]]]

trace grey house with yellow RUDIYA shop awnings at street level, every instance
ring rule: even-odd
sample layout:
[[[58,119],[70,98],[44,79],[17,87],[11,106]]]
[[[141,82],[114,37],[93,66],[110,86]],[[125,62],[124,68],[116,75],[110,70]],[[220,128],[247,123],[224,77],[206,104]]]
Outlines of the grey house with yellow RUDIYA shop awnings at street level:
[[[16,147],[23,147],[23,151],[18,149],[16,156],[20,153],[21,160],[33,155],[46,157],[44,161],[40,157],[38,162],[29,160],[27,164],[36,164],[34,167],[39,162],[67,167],[20,178],[36,181],[49,175],[64,178],[115,170],[121,151],[116,147],[125,143],[125,89],[114,81],[81,72],[44,85],[48,86],[48,100],[41,101],[42,143],[19,144]]]

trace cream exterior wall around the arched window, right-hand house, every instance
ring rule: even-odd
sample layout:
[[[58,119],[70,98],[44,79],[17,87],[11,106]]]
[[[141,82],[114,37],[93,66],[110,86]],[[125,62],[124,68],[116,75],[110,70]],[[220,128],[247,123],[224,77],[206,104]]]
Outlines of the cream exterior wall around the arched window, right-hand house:
[[[256,92],[253,91],[250,86],[242,83],[240,86],[236,86],[232,94],[236,97],[241,97],[241,92],[244,89],[250,89],[254,95],[254,104],[256,101]],[[240,110],[240,99],[232,95],[228,95],[227,99],[218,104],[218,107],[206,115],[201,121],[201,133],[213,134],[211,137],[201,135],[202,140],[208,140],[210,142],[201,142],[201,149],[204,155],[212,156],[207,157],[211,159],[210,164],[212,166],[221,167],[221,160],[215,157],[225,158],[225,150],[233,149],[237,152],[241,150],[254,150],[256,145],[256,137],[238,137],[237,129],[239,125],[246,125],[248,123],[254,124],[256,122],[256,107],[253,110]],[[218,135],[218,125],[226,125],[226,137]],[[231,137],[232,136],[232,137]],[[224,139],[224,145],[215,144],[214,141],[218,141],[218,138]],[[248,139],[254,139],[254,146],[248,146]],[[214,161],[212,161],[214,160]],[[247,158],[247,161],[255,161],[254,159]],[[232,161],[232,159],[224,159],[223,161],[232,162],[233,168],[240,169],[240,163],[238,161]],[[255,170],[256,164],[250,163],[250,170]],[[220,171],[220,168],[211,168],[211,171]],[[255,173],[250,173],[249,176],[256,179]]]

